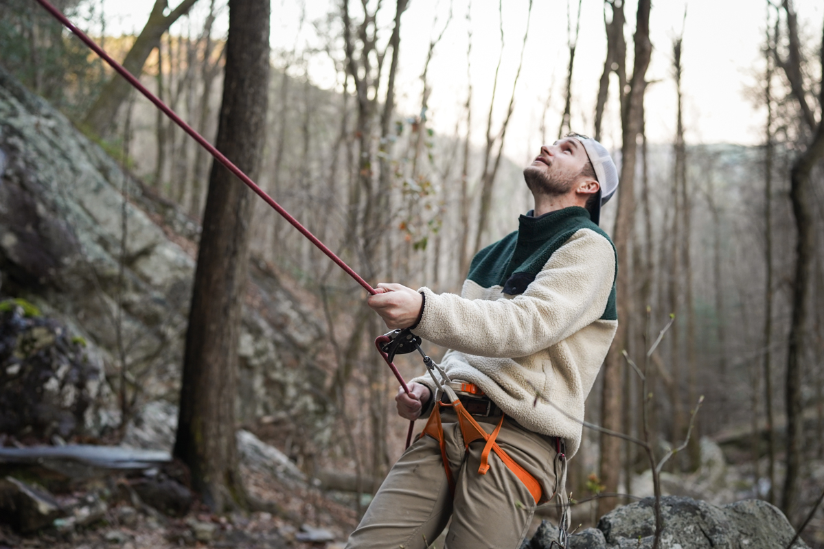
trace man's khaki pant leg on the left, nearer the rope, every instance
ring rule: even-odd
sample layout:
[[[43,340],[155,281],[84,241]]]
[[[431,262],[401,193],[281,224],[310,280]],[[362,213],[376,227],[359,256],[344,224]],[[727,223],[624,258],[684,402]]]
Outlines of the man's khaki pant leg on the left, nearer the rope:
[[[463,461],[463,439],[456,423],[443,430],[454,478]],[[446,528],[451,514],[440,445],[424,435],[391,468],[346,547],[424,549]]]

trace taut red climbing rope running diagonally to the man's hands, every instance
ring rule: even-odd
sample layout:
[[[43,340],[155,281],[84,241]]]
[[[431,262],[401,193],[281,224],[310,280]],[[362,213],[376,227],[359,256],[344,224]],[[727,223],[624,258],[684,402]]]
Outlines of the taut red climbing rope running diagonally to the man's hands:
[[[332,261],[337,263],[339,268],[342,268],[346,272],[346,274],[348,274],[350,277],[354,279],[354,281],[358,282],[358,284],[363,286],[364,290],[368,291],[372,295],[377,294],[377,291],[375,291],[375,289],[372,288],[372,286],[370,286],[367,281],[363,280],[363,278],[360,275],[358,275],[358,273],[355,272],[353,268],[349,267],[349,265],[344,263],[343,259],[335,255],[335,252],[327,248],[326,245],[323,244],[321,240],[318,240],[318,238],[315,235],[312,235],[310,230],[302,226],[300,221],[297,221],[297,219],[295,219],[289,212],[283,209],[283,207],[278,202],[275,202],[274,198],[270,197],[269,194],[267,194],[262,188],[255,184],[255,182],[252,181],[252,179],[248,175],[244,174],[240,168],[232,164],[232,161],[230,161],[226,156],[223,156],[223,154],[220,151],[218,151],[218,149],[216,149],[212,145],[212,143],[206,141],[205,137],[195,132],[194,128],[192,128],[189,124],[185,123],[183,119],[181,119],[180,116],[178,116],[175,113],[175,111],[167,107],[166,104],[163,103],[162,100],[158,99],[156,95],[152,94],[151,91],[148,91],[146,89],[146,86],[143,86],[143,84],[141,84],[140,81],[138,81],[138,79],[135,78],[131,72],[127,71],[120,63],[116,62],[115,59],[111,58],[109,54],[106,54],[105,51],[95,43],[94,40],[91,40],[91,38],[89,38],[86,35],[86,33],[84,33],[82,30],[74,26],[72,21],[69,21],[68,17],[64,16],[63,13],[59,11],[59,9],[52,6],[47,0],[37,0],[37,2],[39,2],[40,6],[44,7],[44,9],[47,12],[54,16],[55,19],[60,21],[63,24],[63,26],[65,26],[68,30],[71,30],[75,35],[77,35],[77,38],[82,40],[84,44],[91,48],[106,63],[109,63],[109,65],[112,68],[114,68],[115,71],[117,71],[121,77],[124,77],[127,81],[129,81],[129,84],[137,88],[140,93],[145,95],[147,100],[152,101],[152,103],[154,103],[154,105],[157,106],[158,109],[161,109],[163,111],[163,114],[166,114],[166,116],[168,116],[172,121],[174,121],[174,123],[180,126],[180,128],[182,128],[185,133],[188,133],[194,139],[194,141],[198,142],[201,147],[204,147],[204,149],[206,149],[209,152],[209,154],[211,154],[215,158],[215,160],[220,162],[222,165],[226,166],[227,170],[231,171],[232,174],[235,174],[237,176],[237,179],[240,179],[243,183],[246,184],[247,187],[255,191],[255,194],[257,194],[260,198],[263,198],[265,202],[269,204],[269,206],[274,208],[275,212],[278,212],[281,216],[283,216],[283,219],[291,223],[292,226],[295,229],[299,230],[302,235],[306,236],[312,244],[315,244],[317,249],[320,249],[321,252],[329,256],[329,258]],[[375,340],[376,345],[378,344],[379,339],[380,337],[378,337],[378,339]],[[380,347],[378,348],[378,350],[380,351]],[[386,354],[383,352],[381,352],[381,356],[383,357],[383,360],[386,361],[386,364],[389,365],[390,369],[392,370],[392,373],[400,382],[401,387],[404,388],[404,391],[407,394],[410,394],[409,387],[406,386],[406,382],[400,375],[400,372],[395,367],[395,365],[392,364],[392,362],[389,360],[389,357],[386,356]],[[409,447],[410,445],[413,424],[414,421],[410,422],[409,433],[407,433],[406,435],[407,447]]]

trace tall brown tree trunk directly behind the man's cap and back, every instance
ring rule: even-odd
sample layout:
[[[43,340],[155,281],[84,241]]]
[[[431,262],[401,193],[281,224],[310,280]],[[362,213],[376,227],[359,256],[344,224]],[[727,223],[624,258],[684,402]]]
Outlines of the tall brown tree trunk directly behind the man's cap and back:
[[[626,348],[627,323],[630,321],[630,238],[634,226],[635,208],[635,153],[637,137],[641,133],[643,120],[644,91],[647,82],[644,79],[652,44],[649,41],[650,0],[639,0],[635,22],[634,46],[635,56],[633,73],[625,100],[622,101],[621,126],[621,167],[620,189],[618,191],[618,219],[616,222],[615,244],[618,255],[617,308],[618,331],[612,342],[604,363],[604,388],[602,393],[602,425],[606,429],[620,430],[621,369],[624,366],[621,351]],[[620,440],[610,435],[601,435],[601,481],[604,491],[618,491],[618,474],[620,472]],[[614,498],[598,500],[598,514],[606,514],[616,505]]]

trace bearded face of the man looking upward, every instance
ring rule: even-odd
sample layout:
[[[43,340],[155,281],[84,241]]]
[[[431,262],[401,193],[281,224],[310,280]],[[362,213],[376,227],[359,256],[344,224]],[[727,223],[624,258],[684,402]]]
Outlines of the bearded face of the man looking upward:
[[[564,137],[541,147],[541,154],[524,168],[523,179],[533,194],[560,196],[574,188],[588,161],[581,142],[574,137]]]

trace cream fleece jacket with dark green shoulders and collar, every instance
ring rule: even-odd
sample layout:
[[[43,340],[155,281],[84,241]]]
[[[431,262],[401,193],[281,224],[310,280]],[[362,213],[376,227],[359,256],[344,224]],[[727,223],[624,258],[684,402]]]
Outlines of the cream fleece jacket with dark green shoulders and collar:
[[[461,295],[419,289],[414,333],[450,349],[441,367],[451,379],[476,384],[528,430],[563,438],[571,457],[618,327],[617,273],[615,245],[583,207],[521,216],[475,255]],[[428,375],[413,381],[435,393]]]

